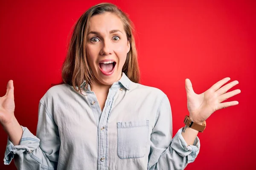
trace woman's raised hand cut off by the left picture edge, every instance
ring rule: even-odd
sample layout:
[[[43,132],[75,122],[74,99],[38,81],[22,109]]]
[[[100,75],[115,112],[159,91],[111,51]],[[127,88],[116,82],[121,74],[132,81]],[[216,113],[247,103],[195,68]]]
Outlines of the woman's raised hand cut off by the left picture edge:
[[[6,95],[0,97],[0,123],[6,126],[12,122],[14,116],[15,103],[14,103],[14,86],[13,80],[7,83]]]

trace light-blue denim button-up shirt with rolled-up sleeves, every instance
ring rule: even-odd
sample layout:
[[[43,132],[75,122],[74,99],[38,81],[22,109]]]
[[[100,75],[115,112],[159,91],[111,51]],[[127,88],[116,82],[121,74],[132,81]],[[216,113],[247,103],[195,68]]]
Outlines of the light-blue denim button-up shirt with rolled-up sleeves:
[[[15,154],[19,170],[182,170],[199,153],[180,128],[172,138],[172,111],[163,91],[122,73],[103,111],[93,91],[83,96],[67,84],[40,99],[36,136],[27,127],[19,145],[7,139],[4,164]],[[78,88],[76,86],[76,88]]]

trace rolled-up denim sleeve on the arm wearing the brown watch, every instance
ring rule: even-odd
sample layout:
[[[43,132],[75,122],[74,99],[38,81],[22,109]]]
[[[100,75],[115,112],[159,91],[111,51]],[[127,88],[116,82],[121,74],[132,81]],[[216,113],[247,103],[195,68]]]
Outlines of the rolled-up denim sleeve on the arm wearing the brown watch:
[[[164,95],[157,111],[155,126],[151,133],[148,170],[183,170],[195,161],[200,149],[196,137],[194,144],[187,146],[180,128],[172,138],[172,111],[169,99]]]

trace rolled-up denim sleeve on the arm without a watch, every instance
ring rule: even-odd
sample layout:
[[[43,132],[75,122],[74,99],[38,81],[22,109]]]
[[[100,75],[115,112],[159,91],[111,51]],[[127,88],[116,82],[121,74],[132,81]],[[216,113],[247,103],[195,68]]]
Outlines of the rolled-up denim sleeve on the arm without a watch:
[[[55,170],[57,169],[60,139],[53,114],[43,101],[38,108],[36,136],[27,127],[22,127],[23,134],[18,145],[7,138],[4,164],[14,159],[18,170]]]

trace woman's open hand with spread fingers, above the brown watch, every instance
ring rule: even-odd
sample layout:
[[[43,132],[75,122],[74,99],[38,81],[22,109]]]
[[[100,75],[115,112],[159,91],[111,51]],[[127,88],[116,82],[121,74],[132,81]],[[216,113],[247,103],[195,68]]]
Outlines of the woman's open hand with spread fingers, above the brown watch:
[[[187,106],[189,110],[189,117],[192,121],[202,124],[213,112],[222,108],[238,105],[238,101],[223,102],[224,100],[241,93],[239,89],[226,93],[230,88],[239,83],[235,80],[224,85],[229,80],[230,78],[226,77],[212,85],[212,87],[204,93],[196,94],[192,88],[190,80],[185,79]],[[221,87],[222,85],[224,86]]]

